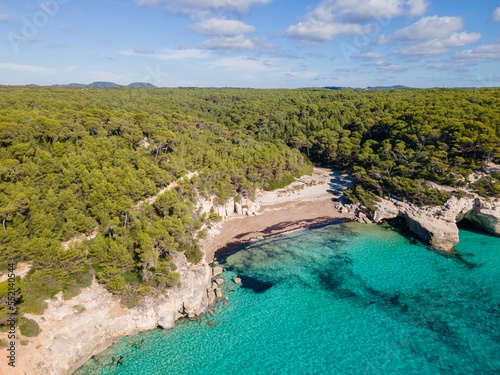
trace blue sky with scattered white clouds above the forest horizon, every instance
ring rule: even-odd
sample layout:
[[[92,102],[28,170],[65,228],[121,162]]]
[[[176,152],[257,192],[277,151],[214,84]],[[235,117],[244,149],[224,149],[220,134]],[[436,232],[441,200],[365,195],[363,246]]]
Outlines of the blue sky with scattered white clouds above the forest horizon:
[[[497,87],[498,0],[0,0],[0,84]]]

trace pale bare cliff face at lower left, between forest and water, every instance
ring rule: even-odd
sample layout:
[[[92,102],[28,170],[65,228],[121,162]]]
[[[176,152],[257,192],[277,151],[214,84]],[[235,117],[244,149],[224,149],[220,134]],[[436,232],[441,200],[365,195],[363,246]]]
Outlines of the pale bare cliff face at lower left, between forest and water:
[[[181,286],[166,290],[165,295],[147,297],[132,309],[121,306],[117,296],[96,282],[71,300],[58,296],[48,301],[43,316],[29,316],[42,332],[28,346],[19,346],[19,366],[9,373],[72,374],[123,336],[171,328],[182,316],[200,315],[208,307],[211,269],[205,263],[189,264],[180,253],[175,263]]]

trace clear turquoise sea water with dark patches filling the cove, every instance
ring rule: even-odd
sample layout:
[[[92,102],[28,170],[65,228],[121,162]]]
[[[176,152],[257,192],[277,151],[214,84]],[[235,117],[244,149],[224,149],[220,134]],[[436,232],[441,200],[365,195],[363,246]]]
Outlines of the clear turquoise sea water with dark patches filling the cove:
[[[243,285],[214,317],[122,339],[76,374],[499,374],[500,238],[460,239],[445,257],[347,223],[219,254]]]

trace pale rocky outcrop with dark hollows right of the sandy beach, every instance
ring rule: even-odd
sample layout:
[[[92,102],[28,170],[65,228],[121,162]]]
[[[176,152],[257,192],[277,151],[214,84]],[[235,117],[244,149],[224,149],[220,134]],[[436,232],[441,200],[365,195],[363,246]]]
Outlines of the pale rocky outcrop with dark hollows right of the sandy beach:
[[[393,198],[381,199],[377,209],[370,211],[358,205],[343,209],[356,214],[358,221],[379,223],[383,220],[403,218],[408,229],[431,246],[451,250],[459,242],[457,223],[467,219],[491,234],[500,235],[500,202],[487,201],[474,195],[470,198],[453,196],[437,207],[417,207]],[[368,220],[367,220],[368,219]]]

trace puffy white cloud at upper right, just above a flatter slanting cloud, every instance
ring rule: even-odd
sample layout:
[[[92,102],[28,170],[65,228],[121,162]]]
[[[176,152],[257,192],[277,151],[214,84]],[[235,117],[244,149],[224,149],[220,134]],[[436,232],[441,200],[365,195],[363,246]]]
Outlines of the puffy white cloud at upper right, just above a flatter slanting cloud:
[[[394,33],[396,40],[422,41],[443,38],[464,28],[462,17],[423,17]]]

